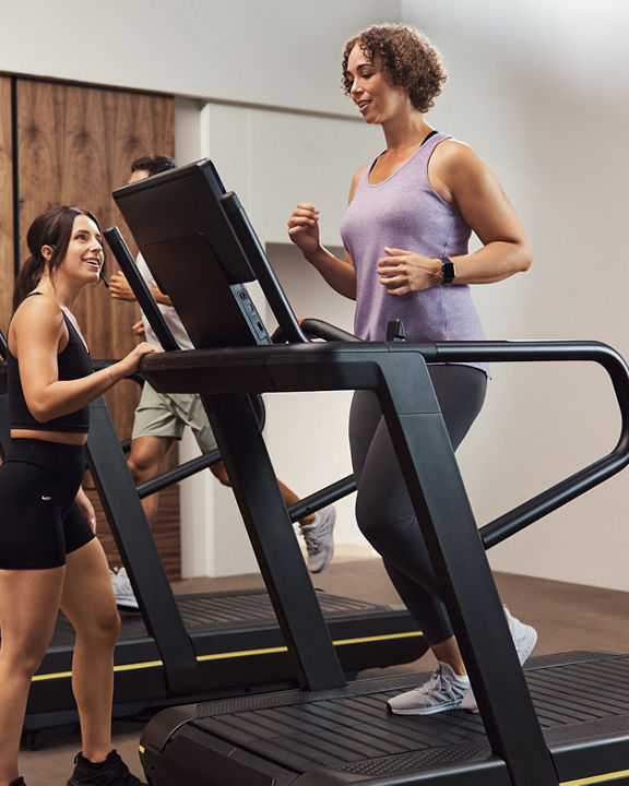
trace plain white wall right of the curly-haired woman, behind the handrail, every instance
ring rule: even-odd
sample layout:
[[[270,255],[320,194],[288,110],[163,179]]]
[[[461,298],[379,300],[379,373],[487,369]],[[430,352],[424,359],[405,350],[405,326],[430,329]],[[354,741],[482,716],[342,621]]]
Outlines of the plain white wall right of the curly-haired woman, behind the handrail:
[[[629,7],[625,2],[403,2],[450,80],[429,121],[499,175],[534,246],[529,273],[476,287],[491,338],[582,338],[629,357],[626,298]],[[460,452],[479,523],[609,451],[619,421],[589,365],[494,367]],[[624,473],[505,544],[500,570],[629,590]]]

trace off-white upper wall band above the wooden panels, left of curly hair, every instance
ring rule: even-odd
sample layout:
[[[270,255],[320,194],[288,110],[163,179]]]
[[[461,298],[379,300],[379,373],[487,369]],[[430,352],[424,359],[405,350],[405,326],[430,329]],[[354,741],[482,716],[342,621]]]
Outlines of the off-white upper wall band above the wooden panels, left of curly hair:
[[[399,10],[399,0],[3,0],[0,71],[348,114],[340,48]]]

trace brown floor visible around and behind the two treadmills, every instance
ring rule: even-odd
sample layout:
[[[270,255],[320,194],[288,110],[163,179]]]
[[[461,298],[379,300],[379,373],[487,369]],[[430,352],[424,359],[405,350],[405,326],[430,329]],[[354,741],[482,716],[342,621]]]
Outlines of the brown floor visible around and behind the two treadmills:
[[[626,593],[584,587],[575,584],[529,579],[509,574],[496,576],[501,597],[512,612],[534,624],[539,632],[535,654],[570,650],[629,652],[629,596]],[[181,582],[177,592],[230,590],[260,586],[257,575]],[[335,560],[314,576],[314,585],[339,595],[375,603],[399,603],[399,598],[378,559]],[[415,664],[392,667],[387,672],[429,670],[434,660],[424,656]],[[368,676],[382,670],[364,672]],[[115,724],[115,747],[138,776],[142,774],[138,742],[142,727],[132,722]],[[72,770],[79,749],[78,738],[41,751],[24,750],[22,774],[28,786],[60,786]]]

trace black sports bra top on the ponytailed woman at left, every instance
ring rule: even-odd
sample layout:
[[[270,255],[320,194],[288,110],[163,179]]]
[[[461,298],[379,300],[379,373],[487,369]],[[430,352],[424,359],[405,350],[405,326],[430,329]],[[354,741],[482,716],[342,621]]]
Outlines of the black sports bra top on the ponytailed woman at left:
[[[40,295],[41,293],[31,293],[26,297]],[[57,366],[59,369],[60,380],[80,379],[87,377],[94,369],[90,353],[85,348],[83,340],[72,324],[71,320],[63,313],[66,325],[68,326],[68,345],[63,352],[57,355]],[[10,352],[7,353],[7,393],[9,395],[9,427],[12,429],[31,429],[34,431],[71,431],[75,433],[87,433],[90,430],[90,407],[84,406],[76,412],[61,415],[52,420],[39,422],[35,420],[22,390],[22,380],[20,379],[20,364],[17,358],[13,357]]]

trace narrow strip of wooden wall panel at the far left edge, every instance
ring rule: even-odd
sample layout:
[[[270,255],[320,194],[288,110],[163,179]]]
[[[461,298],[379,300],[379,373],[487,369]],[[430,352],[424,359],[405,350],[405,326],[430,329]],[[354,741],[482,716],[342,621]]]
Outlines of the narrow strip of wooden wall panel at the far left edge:
[[[7,335],[13,294],[11,79],[0,76],[0,330]]]

